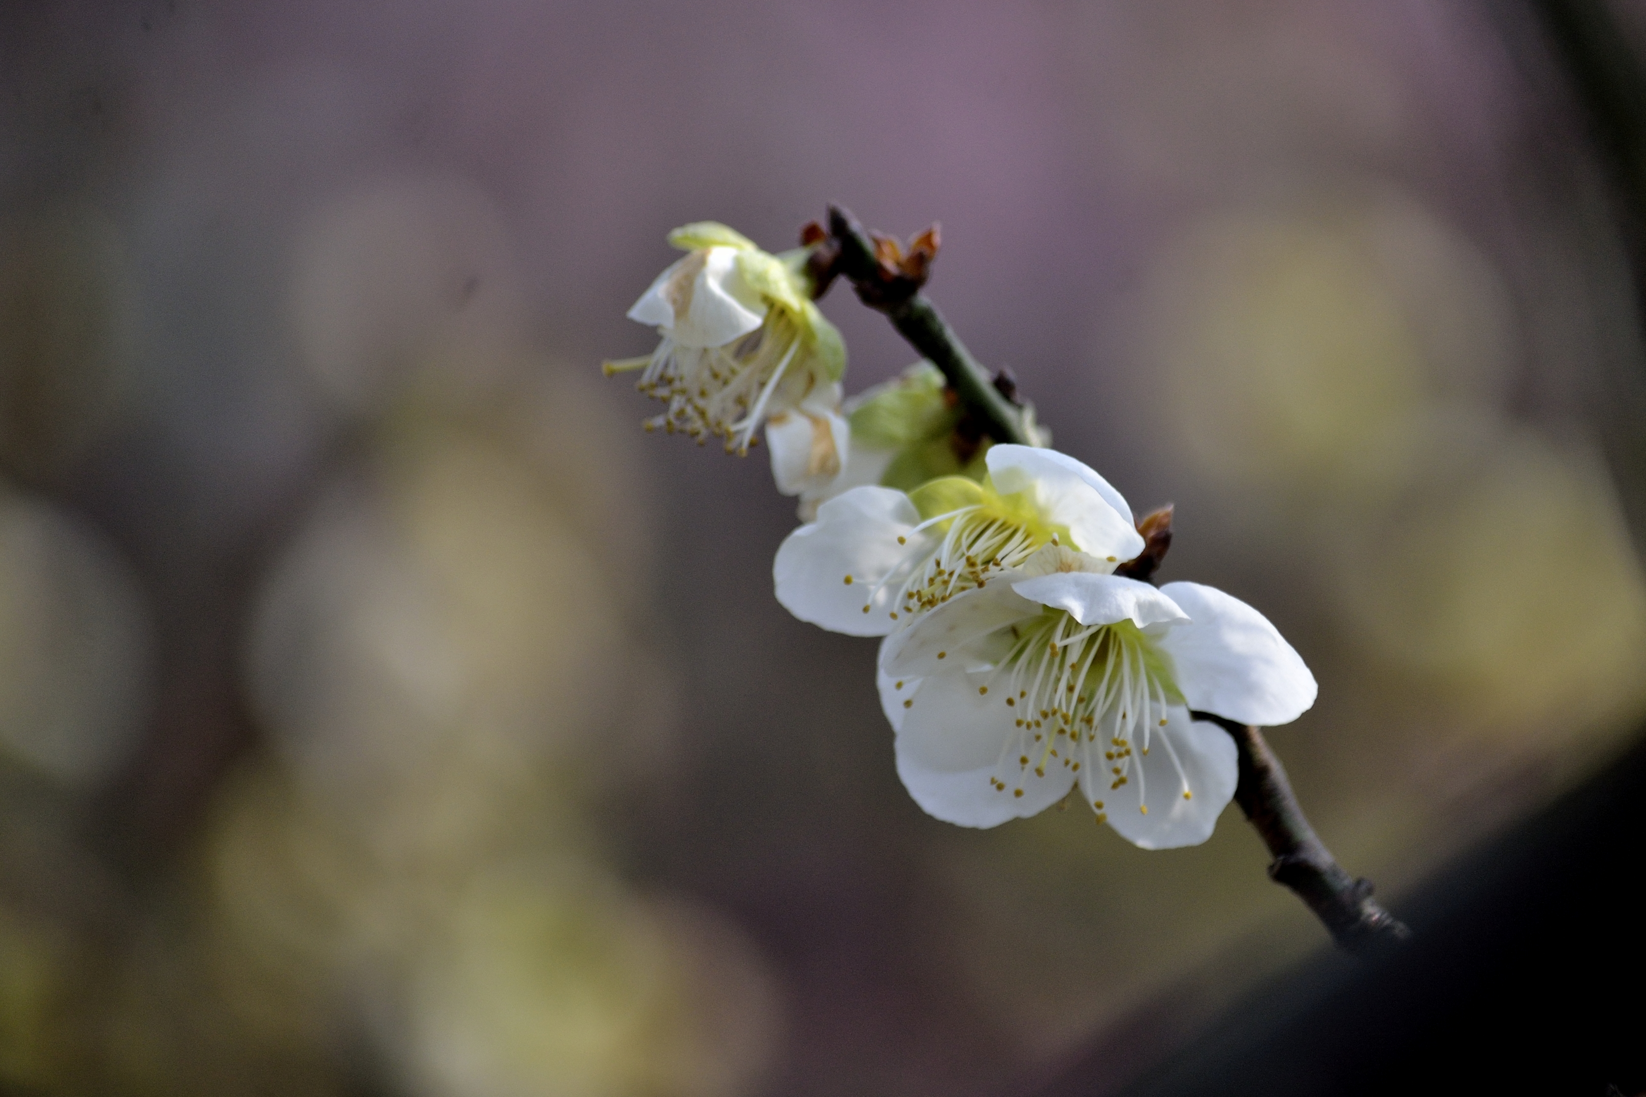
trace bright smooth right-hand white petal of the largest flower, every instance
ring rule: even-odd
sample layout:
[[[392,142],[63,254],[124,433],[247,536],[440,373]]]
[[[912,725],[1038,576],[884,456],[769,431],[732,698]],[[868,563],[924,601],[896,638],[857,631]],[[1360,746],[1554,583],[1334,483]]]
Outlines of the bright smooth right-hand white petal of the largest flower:
[[[1198,582],[1169,582],[1160,592],[1192,618],[1155,641],[1172,656],[1190,709],[1274,727],[1315,702],[1315,676],[1262,613]]]

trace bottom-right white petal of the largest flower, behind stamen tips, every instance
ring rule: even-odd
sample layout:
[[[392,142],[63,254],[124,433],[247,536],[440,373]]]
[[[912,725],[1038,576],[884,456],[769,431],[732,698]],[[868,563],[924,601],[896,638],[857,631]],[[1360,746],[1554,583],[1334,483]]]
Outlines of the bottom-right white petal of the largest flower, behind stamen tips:
[[[1147,755],[1141,743],[1134,747],[1131,773],[1119,788],[1111,788],[1114,776],[1103,755],[1090,753],[1095,758],[1080,771],[1086,806],[1104,814],[1123,839],[1142,849],[1205,842],[1234,798],[1239,778],[1230,734],[1216,724],[1190,720],[1188,709],[1182,707],[1167,709],[1165,727],[1149,729]]]

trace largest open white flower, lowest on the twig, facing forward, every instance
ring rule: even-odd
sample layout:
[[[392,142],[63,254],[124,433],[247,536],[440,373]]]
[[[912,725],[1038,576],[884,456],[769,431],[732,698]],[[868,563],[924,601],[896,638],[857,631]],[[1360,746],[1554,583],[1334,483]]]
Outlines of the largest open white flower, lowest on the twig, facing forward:
[[[993,827],[1078,785],[1136,845],[1197,845],[1234,794],[1236,760],[1190,711],[1274,725],[1314,704],[1314,674],[1258,610],[1106,567],[1050,546],[887,636],[897,773],[928,814]]]

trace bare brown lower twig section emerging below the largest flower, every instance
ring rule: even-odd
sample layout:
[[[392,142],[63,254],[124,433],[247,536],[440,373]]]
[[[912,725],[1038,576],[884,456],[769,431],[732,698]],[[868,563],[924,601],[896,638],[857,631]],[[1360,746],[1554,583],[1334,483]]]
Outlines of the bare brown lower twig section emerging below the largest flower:
[[[1371,880],[1348,875],[1309,826],[1286,768],[1262,732],[1210,712],[1192,715],[1216,724],[1234,740],[1239,757],[1234,803],[1274,854],[1269,878],[1295,891],[1332,931],[1332,939],[1350,952],[1376,952],[1411,937],[1406,923],[1371,898]]]

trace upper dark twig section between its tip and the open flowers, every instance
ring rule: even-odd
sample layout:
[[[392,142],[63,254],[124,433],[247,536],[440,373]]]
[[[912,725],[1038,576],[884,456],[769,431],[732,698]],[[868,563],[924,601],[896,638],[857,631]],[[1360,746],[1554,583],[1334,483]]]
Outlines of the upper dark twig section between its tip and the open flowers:
[[[849,281],[864,304],[886,312],[897,334],[943,370],[950,388],[983,421],[989,437],[1032,446],[1034,439],[1024,429],[1024,410],[994,386],[989,372],[971,357],[937,306],[920,293],[920,280],[895,275],[884,266],[874,252],[874,242],[849,211],[831,206],[828,215],[828,234],[838,248],[833,273]]]

